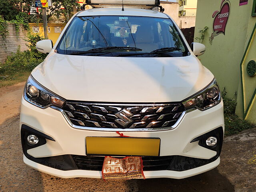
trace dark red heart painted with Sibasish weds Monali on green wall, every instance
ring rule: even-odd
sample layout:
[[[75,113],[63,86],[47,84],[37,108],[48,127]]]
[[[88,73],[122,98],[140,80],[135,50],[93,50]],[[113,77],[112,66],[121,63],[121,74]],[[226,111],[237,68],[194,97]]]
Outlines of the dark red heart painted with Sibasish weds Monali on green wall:
[[[212,35],[209,38],[210,44],[215,36],[219,34],[225,35],[226,25],[228,23],[228,18],[230,15],[230,2],[228,0],[222,0],[220,10],[216,10],[212,14],[214,18],[212,23]]]

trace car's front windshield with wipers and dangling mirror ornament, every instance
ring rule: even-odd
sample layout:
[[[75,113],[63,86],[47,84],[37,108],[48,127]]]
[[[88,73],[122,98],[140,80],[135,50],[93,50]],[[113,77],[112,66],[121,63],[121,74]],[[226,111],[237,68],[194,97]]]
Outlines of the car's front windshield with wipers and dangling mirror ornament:
[[[141,16],[76,17],[62,36],[57,52],[88,56],[188,55],[172,20]]]

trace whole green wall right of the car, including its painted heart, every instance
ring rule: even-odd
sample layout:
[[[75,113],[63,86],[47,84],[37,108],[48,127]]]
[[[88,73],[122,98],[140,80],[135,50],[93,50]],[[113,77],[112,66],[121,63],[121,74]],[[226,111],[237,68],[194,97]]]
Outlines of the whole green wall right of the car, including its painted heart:
[[[236,99],[236,113],[256,122],[256,0],[198,0],[196,14],[194,37],[206,46],[199,59]]]

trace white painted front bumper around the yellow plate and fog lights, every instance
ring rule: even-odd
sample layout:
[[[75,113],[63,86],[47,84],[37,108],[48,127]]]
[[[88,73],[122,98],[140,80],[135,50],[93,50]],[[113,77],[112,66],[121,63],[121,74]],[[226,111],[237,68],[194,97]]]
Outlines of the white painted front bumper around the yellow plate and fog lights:
[[[44,163],[37,163],[33,161],[33,158],[40,159],[66,154],[85,156],[86,136],[118,136],[116,132],[111,131],[103,132],[73,128],[68,124],[60,111],[52,108],[38,108],[28,103],[24,98],[22,98],[21,104],[20,128],[22,125],[29,126],[53,138],[53,140],[46,139],[46,144],[24,151],[24,162],[36,170],[63,178],[101,178],[101,172],[98,170],[60,170],[58,168],[52,168],[54,165],[52,166],[46,163],[48,166],[45,166],[43,165]],[[194,110],[188,112],[173,130],[125,132],[125,135],[132,137],[160,138],[160,156],[185,156],[205,160],[212,159],[208,164],[194,165],[192,169],[184,171],[155,170],[144,172],[146,178],[186,178],[206,172],[218,166],[220,162],[220,158],[218,157],[220,150],[214,151],[200,146],[200,141],[198,140],[195,142],[191,141],[220,127],[222,127],[224,132],[222,102],[206,111]],[[221,140],[222,139],[223,138],[221,138]]]

